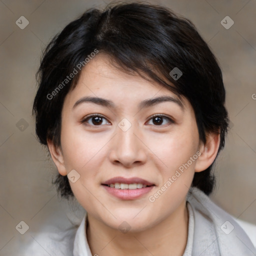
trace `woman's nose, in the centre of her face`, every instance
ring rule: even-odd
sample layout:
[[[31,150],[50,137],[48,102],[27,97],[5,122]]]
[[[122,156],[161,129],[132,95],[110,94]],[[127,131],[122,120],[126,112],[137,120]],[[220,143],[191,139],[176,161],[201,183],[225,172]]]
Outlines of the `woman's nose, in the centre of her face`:
[[[146,161],[146,146],[135,124],[131,124],[126,131],[117,126],[116,133],[112,138],[110,161],[125,167],[143,164]]]

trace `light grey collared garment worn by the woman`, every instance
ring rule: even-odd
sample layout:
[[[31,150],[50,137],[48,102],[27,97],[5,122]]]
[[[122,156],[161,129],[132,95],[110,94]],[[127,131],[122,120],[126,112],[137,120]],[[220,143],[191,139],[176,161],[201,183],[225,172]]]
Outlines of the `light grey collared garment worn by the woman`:
[[[188,209],[188,233],[183,256],[256,255],[255,247],[241,226],[201,190],[198,188],[189,189],[186,196],[186,206]],[[48,239],[43,244],[45,251],[47,251],[45,255],[96,256],[97,254],[91,254],[88,245],[86,224],[87,214],[85,213],[78,227],[50,236],[45,235],[45,240]],[[256,229],[255,225],[251,225],[251,227]],[[42,256],[37,252],[35,247],[29,248],[24,255]]]

